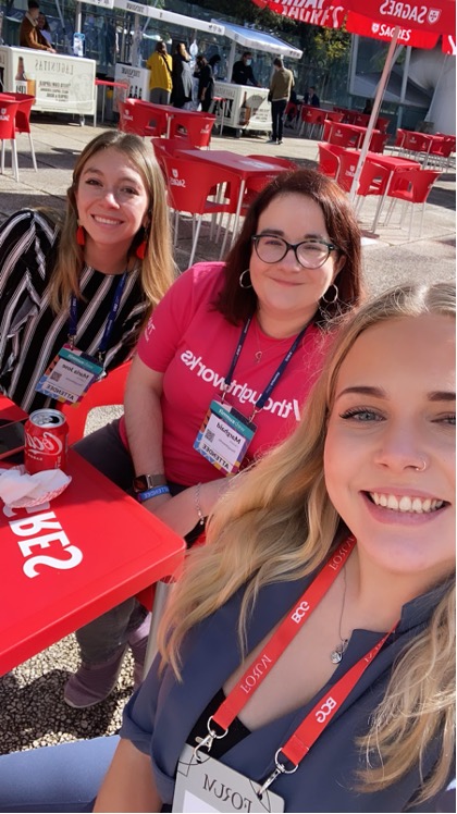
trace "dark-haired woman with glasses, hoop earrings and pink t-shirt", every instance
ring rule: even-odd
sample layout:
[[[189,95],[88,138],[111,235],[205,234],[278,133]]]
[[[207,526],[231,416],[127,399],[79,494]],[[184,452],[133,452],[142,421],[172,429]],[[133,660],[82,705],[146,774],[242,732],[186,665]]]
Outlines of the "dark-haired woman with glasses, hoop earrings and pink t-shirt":
[[[145,508],[192,542],[230,480],[195,448],[210,405],[223,415],[226,386],[223,404],[257,428],[242,466],[263,455],[299,420],[326,319],[361,295],[346,195],[313,170],[282,173],[252,202],[226,263],[197,263],[171,287],[138,344],[125,419],[83,439],[78,453],[122,489],[134,484]],[[78,630],[82,665],[65,701],[107,698],[132,642],[138,682],[148,632],[135,599]]]

